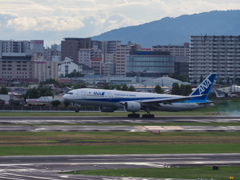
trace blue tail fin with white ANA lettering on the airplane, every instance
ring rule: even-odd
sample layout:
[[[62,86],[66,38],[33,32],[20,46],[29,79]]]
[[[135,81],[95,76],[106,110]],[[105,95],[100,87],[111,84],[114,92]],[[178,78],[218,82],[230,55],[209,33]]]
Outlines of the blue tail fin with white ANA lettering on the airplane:
[[[198,87],[195,91],[193,91],[190,96],[196,96],[196,95],[203,95],[201,97],[197,97],[194,99],[198,100],[207,100],[207,97],[211,91],[211,88],[213,86],[214,80],[217,77],[217,74],[210,74]]]

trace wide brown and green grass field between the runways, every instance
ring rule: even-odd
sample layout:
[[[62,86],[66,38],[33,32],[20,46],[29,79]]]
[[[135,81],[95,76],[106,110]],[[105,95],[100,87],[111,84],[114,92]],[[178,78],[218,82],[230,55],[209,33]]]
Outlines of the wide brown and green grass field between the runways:
[[[240,153],[240,132],[0,132],[0,155]]]

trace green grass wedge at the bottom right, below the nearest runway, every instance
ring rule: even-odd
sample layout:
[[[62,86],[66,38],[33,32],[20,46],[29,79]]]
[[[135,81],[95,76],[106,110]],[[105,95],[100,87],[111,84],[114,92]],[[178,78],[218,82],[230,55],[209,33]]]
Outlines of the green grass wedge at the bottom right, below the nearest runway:
[[[219,170],[212,170],[212,166],[175,167],[175,168],[139,168],[139,169],[104,169],[70,172],[69,174],[125,176],[145,178],[178,178],[178,179],[211,179],[226,180],[229,177],[240,177],[240,166],[220,166]]]

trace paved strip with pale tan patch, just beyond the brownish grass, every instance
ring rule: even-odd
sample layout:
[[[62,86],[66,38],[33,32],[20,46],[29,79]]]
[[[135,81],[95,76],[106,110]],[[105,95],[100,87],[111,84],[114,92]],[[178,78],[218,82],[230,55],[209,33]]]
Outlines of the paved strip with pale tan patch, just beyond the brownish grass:
[[[240,126],[41,126],[41,125],[3,125],[0,131],[126,131],[126,132],[239,132]]]

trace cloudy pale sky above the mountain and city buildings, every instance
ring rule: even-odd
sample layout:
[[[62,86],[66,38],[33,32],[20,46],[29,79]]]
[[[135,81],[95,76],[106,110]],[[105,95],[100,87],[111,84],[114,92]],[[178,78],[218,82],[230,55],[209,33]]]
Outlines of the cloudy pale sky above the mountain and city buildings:
[[[50,46],[164,17],[236,9],[239,0],[0,0],[0,40]]]

